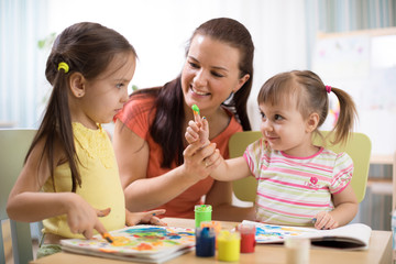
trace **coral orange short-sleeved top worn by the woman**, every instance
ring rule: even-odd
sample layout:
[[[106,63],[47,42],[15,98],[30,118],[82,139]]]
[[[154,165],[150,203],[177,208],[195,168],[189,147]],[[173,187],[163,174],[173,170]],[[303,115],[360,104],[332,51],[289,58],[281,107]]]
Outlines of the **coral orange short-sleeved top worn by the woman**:
[[[163,152],[161,145],[154,142],[150,134],[150,125],[155,117],[153,103],[154,98],[134,97],[124,106],[122,111],[114,117],[114,119],[119,119],[131,131],[148,143],[150,157],[146,175],[147,178],[161,176],[176,167],[175,162],[172,163],[170,168],[161,167]],[[211,142],[217,144],[217,147],[224,158],[229,157],[228,142],[230,136],[235,132],[242,131],[241,124],[237,121],[232,113],[229,114],[231,117],[229,125],[223,132],[211,140]],[[201,204],[202,196],[208,194],[212,185],[213,178],[207,177],[158,208],[166,209],[164,217],[194,218],[195,205]]]

